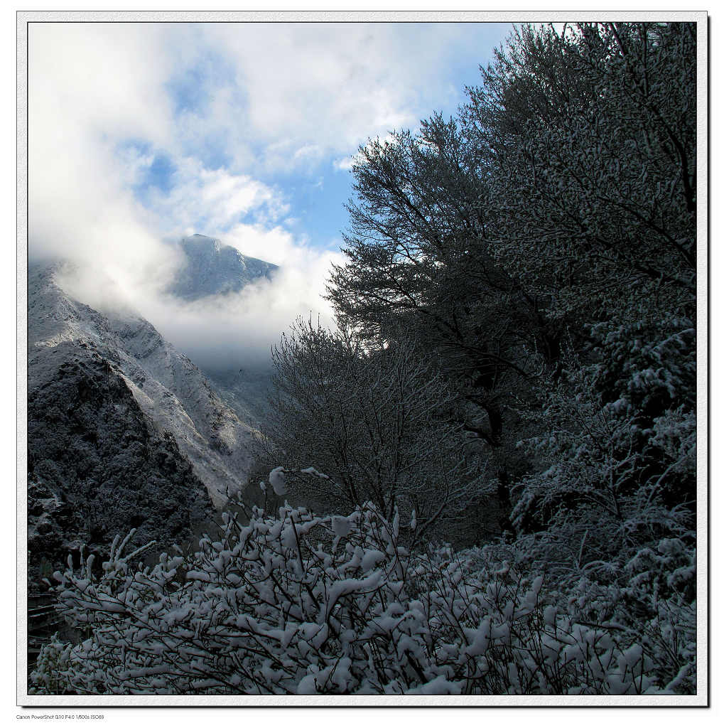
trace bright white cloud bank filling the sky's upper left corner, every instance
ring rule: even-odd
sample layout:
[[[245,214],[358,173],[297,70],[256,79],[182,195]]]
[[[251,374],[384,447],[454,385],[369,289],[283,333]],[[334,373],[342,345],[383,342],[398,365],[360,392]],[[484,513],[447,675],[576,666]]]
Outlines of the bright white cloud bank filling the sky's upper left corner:
[[[129,186],[137,161],[114,151],[120,138],[170,133],[159,32],[31,23],[29,73],[31,256],[95,261],[126,290],[170,274],[175,261]]]

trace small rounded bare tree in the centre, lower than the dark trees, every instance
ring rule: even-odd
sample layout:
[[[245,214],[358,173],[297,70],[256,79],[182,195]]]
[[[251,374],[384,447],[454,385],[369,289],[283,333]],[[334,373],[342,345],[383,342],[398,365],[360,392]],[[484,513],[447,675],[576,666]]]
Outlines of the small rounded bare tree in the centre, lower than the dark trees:
[[[350,331],[300,319],[273,360],[266,456],[295,471],[293,491],[342,509],[372,501],[387,518],[397,509],[418,536],[464,510],[480,464],[453,416],[455,397],[413,340],[370,349]]]

